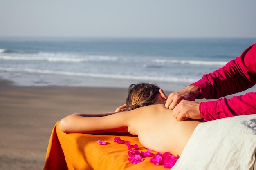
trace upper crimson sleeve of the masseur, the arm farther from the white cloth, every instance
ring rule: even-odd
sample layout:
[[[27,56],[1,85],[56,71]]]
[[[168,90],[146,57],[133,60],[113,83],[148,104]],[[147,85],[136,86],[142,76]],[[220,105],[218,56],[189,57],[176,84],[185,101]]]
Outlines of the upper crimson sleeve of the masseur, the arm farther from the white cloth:
[[[200,88],[199,98],[218,99],[256,84],[256,44],[247,48],[240,57],[231,60],[224,67],[203,75],[193,85]]]

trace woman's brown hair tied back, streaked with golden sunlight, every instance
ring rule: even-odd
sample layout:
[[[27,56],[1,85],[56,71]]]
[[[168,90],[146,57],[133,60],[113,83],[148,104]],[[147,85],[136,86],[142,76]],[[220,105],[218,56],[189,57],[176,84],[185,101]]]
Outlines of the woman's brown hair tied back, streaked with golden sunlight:
[[[128,88],[126,109],[124,111],[155,104],[157,102],[157,95],[160,93],[159,90],[160,88],[156,84],[131,84]]]

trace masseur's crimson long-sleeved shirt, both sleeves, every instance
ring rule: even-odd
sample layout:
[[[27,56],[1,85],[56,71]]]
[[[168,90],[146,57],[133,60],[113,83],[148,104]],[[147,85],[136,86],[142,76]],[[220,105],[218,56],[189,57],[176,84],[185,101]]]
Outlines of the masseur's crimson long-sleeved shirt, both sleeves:
[[[256,92],[234,96],[227,95],[244,91],[256,84],[256,44],[248,47],[240,57],[228,62],[224,67],[203,75],[192,85],[200,88],[202,99],[218,99],[201,102],[199,111],[205,121],[236,115],[256,114]]]

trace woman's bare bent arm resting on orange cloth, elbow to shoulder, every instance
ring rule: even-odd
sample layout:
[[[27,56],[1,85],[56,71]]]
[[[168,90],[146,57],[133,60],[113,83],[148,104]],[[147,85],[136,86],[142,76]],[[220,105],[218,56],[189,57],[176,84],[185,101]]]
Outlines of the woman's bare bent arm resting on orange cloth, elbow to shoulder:
[[[127,132],[127,112],[108,114],[110,113],[93,114],[101,115],[100,117],[88,117],[91,116],[90,113],[75,113],[61,119],[59,128],[66,133]]]

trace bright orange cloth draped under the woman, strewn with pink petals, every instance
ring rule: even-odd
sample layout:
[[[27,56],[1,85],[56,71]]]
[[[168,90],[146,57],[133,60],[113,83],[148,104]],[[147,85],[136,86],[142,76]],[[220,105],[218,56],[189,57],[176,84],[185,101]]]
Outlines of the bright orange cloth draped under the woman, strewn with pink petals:
[[[150,158],[133,165],[128,161],[128,149],[125,144],[113,142],[115,137],[138,144],[139,151],[146,152],[138,137],[124,133],[81,134],[63,133],[56,123],[47,148],[43,170],[165,170],[163,166],[150,163]],[[97,140],[109,144],[99,145]],[[156,153],[154,151],[150,151]]]

